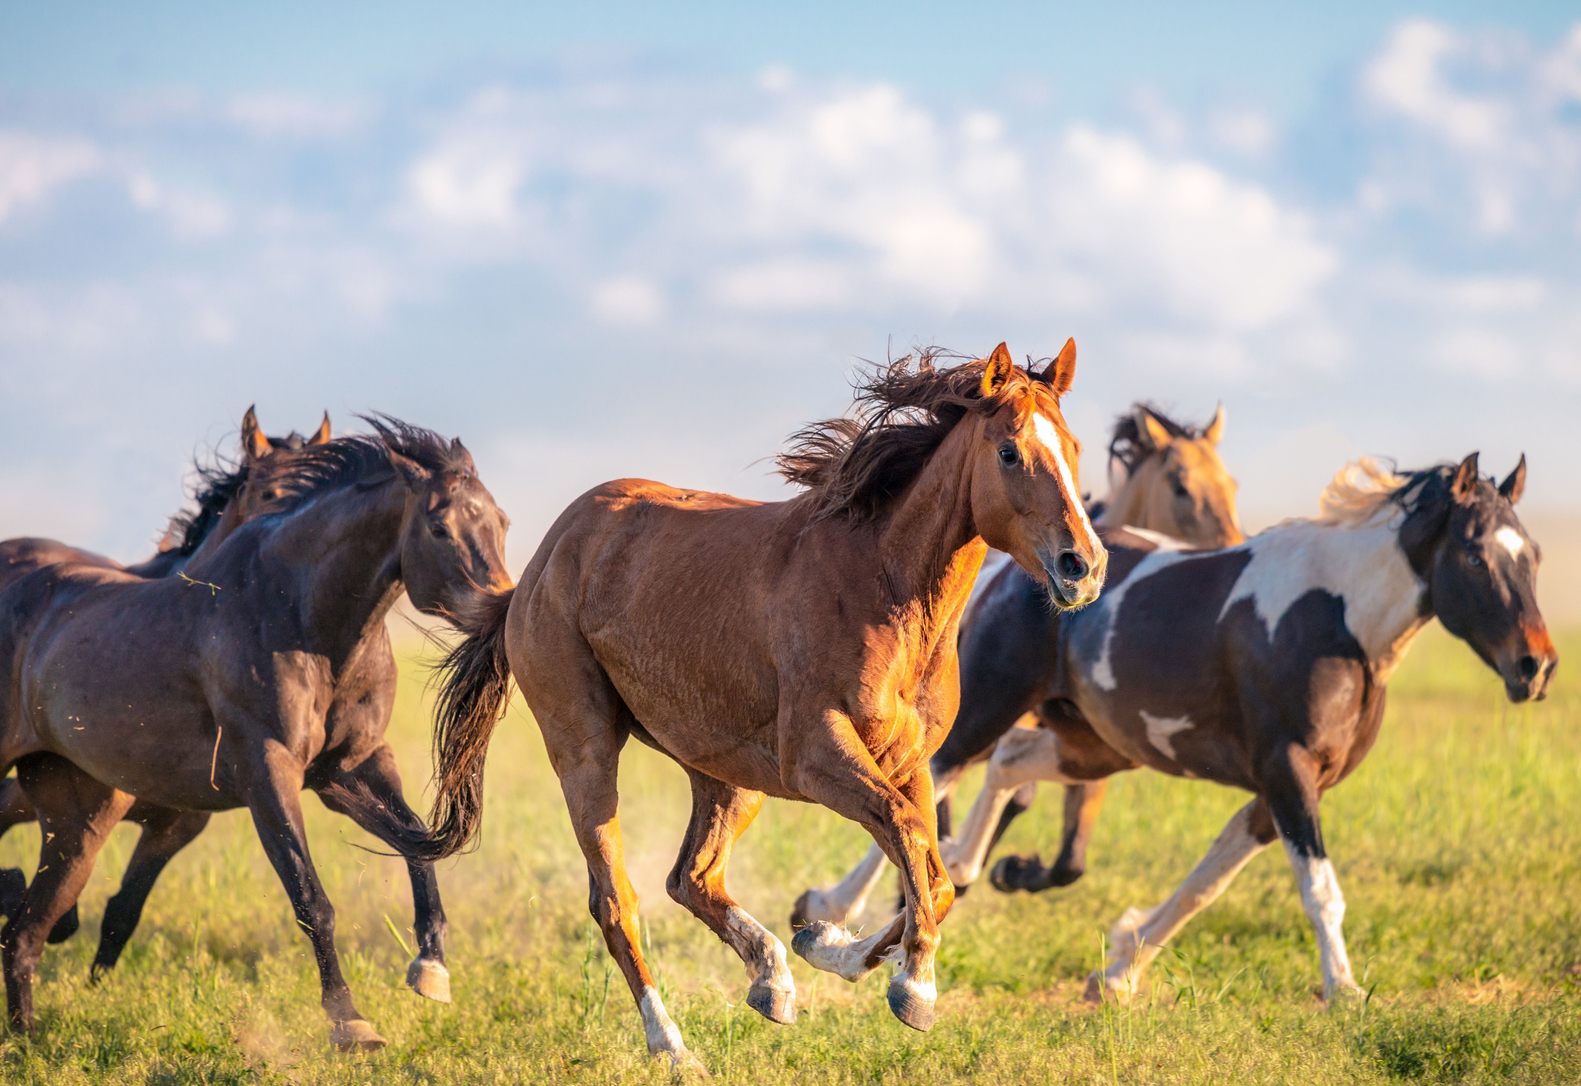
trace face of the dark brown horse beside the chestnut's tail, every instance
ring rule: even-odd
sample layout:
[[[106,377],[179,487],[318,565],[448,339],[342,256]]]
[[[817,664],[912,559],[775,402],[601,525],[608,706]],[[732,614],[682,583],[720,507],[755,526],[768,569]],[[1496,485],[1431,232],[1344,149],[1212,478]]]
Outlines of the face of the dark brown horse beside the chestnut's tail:
[[[455,615],[477,591],[509,588],[504,533],[511,520],[477,476],[425,471],[409,460],[397,468],[408,488],[400,571],[413,605],[427,615]]]

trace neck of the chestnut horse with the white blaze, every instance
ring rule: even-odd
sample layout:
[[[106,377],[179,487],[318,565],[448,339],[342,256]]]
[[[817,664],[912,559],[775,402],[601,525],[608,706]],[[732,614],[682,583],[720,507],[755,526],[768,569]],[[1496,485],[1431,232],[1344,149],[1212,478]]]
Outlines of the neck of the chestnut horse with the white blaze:
[[[960,621],[987,544],[971,503],[969,424],[960,424],[879,522],[879,561],[896,610],[931,640]]]

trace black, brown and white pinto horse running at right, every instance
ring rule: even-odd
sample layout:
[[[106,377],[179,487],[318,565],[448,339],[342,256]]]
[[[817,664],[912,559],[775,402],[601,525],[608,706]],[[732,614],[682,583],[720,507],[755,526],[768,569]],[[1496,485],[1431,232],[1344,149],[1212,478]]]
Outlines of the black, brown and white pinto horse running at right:
[[[1371,749],[1388,678],[1434,617],[1510,700],[1546,694],[1559,658],[1537,607],[1541,555],[1515,515],[1524,488],[1526,457],[1497,487],[1478,476],[1477,454],[1404,476],[1363,460],[1334,477],[1315,520],[1238,547],[1110,533],[1113,575],[1078,615],[1048,615],[1031,582],[1001,575],[980,617],[1001,640],[980,642],[983,659],[963,650],[961,667],[1036,645],[1029,656],[1043,664],[1029,659],[1023,692],[1045,727],[1009,730],[1017,713],[1001,713],[964,850],[980,858],[999,808],[1036,779],[1146,765],[1254,794],[1168,901],[1121,918],[1089,999],[1129,999],[1164,944],[1274,838],[1317,931],[1325,999],[1356,991],[1319,801]],[[1039,631],[1032,615],[1047,617]]]

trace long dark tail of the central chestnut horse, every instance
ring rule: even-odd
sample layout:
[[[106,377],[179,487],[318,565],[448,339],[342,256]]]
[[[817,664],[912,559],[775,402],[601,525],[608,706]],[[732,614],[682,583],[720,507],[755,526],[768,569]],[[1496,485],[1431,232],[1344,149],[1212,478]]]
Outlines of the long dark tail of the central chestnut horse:
[[[477,836],[484,808],[484,757],[489,738],[511,699],[511,664],[504,656],[504,620],[515,590],[482,593],[452,621],[466,637],[438,667],[440,705],[433,727],[433,828],[427,838],[395,847],[413,860],[443,860]]]

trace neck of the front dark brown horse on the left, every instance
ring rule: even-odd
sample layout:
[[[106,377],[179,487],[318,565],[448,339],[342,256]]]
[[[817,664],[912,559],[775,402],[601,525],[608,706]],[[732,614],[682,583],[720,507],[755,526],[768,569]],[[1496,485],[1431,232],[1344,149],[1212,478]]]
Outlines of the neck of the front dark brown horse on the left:
[[[402,593],[400,528],[406,488],[398,477],[326,493],[285,517],[266,558],[308,571],[304,628],[327,650],[351,653],[384,626]]]

